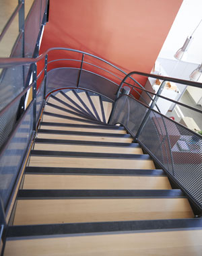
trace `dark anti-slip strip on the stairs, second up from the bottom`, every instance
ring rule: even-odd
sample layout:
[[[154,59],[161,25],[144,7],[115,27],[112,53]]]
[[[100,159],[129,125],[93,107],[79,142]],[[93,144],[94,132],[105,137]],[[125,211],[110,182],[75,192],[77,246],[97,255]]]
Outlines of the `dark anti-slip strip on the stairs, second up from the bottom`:
[[[20,189],[19,199],[186,198],[180,189]]]

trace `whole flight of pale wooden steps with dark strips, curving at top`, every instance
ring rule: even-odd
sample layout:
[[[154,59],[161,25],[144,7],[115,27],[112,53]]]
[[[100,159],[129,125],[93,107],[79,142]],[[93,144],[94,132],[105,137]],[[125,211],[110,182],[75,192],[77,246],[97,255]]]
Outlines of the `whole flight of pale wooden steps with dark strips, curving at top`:
[[[50,95],[8,231],[5,256],[202,255],[200,219],[124,127],[112,102]]]

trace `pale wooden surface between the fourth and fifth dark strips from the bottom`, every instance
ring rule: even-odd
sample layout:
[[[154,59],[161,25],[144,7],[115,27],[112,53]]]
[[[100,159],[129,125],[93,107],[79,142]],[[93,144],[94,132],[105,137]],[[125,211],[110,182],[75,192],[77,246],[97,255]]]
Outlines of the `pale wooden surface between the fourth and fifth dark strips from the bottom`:
[[[117,147],[98,147],[82,145],[63,145],[63,144],[44,144],[35,143],[34,150],[54,150],[66,152],[94,152],[94,153],[121,153],[121,154],[143,154],[141,148],[117,148]]]

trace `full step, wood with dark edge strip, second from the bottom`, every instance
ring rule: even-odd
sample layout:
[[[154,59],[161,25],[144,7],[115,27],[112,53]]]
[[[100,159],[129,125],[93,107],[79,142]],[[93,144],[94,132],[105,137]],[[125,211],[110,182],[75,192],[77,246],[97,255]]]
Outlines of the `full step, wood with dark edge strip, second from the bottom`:
[[[23,189],[19,191],[13,224],[192,217],[189,201],[179,190]]]

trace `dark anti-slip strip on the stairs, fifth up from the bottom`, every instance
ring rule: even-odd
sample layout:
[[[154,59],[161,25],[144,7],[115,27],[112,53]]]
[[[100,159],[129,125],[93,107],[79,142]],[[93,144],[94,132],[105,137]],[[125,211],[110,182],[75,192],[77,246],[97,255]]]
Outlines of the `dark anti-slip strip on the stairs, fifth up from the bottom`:
[[[122,143],[122,142],[105,142],[105,141],[85,141],[85,140],[73,140],[73,139],[40,139],[36,138],[35,143],[46,144],[65,144],[65,145],[86,145],[86,146],[105,146],[105,147],[128,147],[128,148],[140,148],[139,143]]]

